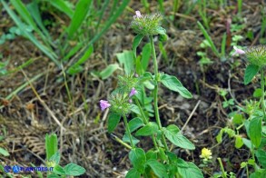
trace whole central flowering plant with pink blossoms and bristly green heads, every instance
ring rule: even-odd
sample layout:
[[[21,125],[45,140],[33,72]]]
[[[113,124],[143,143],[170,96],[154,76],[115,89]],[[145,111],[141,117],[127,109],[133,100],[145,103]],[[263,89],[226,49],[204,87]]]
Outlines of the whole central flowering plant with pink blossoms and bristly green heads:
[[[185,162],[171,152],[172,148],[169,148],[172,144],[172,146],[193,150],[194,144],[182,135],[177,125],[170,124],[164,127],[161,123],[158,109],[160,84],[185,98],[192,98],[192,94],[175,76],[158,72],[153,35],[159,35],[162,41],[167,39],[166,31],[161,26],[162,20],[163,16],[160,14],[142,15],[136,11],[131,23],[133,31],[138,34],[133,40],[136,73],[119,76],[118,87],[107,101],[100,101],[100,106],[102,111],[107,108],[110,110],[108,117],[108,132],[110,133],[114,131],[123,117],[126,132],[122,140],[118,137],[114,139],[130,149],[129,159],[133,168],[126,174],[126,177],[203,177],[201,170],[195,164]],[[140,62],[136,57],[136,48],[145,36],[149,38],[152,48],[153,74],[138,68]],[[148,96],[150,93],[147,90],[152,90],[152,97]],[[146,105],[148,100],[153,102],[152,109]],[[128,122],[130,116],[135,117]],[[141,142],[139,138],[146,141],[147,137],[152,139],[153,147],[144,151],[143,148],[138,147],[138,143]]]

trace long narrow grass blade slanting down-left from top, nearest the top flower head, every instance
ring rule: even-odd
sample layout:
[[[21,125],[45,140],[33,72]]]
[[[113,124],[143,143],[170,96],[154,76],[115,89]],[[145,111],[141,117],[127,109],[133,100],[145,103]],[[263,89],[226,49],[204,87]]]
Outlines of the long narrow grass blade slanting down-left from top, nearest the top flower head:
[[[129,2],[130,0],[123,0],[122,4],[117,8],[115,13],[104,24],[102,31],[99,34],[95,35],[94,38],[88,44],[86,44],[86,46],[82,49],[82,52],[84,52],[84,50],[87,50],[88,46],[94,44],[94,42],[97,41],[109,29],[109,27],[115,22],[115,20],[123,13],[123,10]]]

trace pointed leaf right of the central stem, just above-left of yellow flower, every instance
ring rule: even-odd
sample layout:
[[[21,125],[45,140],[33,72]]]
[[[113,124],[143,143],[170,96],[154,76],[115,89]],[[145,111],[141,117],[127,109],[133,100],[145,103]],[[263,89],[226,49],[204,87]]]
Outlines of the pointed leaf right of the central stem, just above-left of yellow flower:
[[[184,149],[188,150],[194,150],[195,146],[193,143],[191,143],[186,137],[184,137],[182,134],[177,133],[177,130],[172,130],[170,128],[163,128],[163,133],[165,134],[165,137],[174,145],[179,146]]]

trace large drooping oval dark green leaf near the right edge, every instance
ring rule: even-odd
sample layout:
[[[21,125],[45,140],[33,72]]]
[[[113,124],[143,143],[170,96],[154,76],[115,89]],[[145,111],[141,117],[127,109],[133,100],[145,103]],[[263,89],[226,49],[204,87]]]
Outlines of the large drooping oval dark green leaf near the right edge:
[[[261,144],[262,129],[261,129],[261,118],[253,118],[250,123],[250,137],[251,143],[253,143],[257,148]]]

